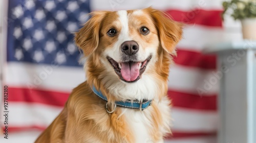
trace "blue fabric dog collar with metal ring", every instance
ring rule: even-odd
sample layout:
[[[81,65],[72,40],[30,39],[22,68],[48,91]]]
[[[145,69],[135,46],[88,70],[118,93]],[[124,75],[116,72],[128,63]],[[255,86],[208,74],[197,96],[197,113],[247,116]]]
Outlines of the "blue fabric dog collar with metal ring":
[[[106,101],[106,110],[108,111],[108,99],[106,99],[105,96],[103,96],[103,94],[101,93],[101,91],[98,91],[94,86],[92,87],[93,92],[102,100]],[[134,109],[140,109],[141,111],[146,109],[148,106],[150,106],[152,104],[152,100],[143,100],[142,102],[135,100],[135,101],[130,101],[130,100],[126,100],[126,101],[116,101],[115,102],[115,107],[117,106],[121,106],[121,107],[126,107],[126,108],[134,108]],[[115,108],[113,109],[113,111],[108,111],[109,113],[114,112]]]

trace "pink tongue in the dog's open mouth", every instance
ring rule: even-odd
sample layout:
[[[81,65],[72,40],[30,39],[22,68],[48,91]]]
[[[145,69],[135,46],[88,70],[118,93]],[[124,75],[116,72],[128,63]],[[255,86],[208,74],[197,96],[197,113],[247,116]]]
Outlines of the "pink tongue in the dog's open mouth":
[[[134,81],[140,74],[140,62],[121,63],[121,74],[124,80]]]

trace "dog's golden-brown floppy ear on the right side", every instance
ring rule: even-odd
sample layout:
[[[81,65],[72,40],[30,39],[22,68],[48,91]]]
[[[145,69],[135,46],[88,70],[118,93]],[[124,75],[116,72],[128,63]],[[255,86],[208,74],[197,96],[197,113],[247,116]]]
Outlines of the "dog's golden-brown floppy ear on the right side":
[[[183,24],[170,19],[170,17],[162,11],[151,7],[145,10],[151,14],[155,22],[163,49],[169,54],[175,54],[175,46],[182,38]]]

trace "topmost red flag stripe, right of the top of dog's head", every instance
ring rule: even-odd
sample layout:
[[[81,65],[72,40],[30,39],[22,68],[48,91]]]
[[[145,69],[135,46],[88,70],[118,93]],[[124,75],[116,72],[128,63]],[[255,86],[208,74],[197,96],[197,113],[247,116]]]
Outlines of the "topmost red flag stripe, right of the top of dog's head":
[[[174,20],[187,24],[222,27],[221,10],[194,9],[191,11],[166,10]]]

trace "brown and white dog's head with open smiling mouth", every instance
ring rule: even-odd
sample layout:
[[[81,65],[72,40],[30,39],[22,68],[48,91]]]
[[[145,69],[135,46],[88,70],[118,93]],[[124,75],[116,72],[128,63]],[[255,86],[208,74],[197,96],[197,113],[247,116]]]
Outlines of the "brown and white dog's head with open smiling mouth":
[[[89,81],[97,79],[107,87],[113,83],[134,90],[141,86],[138,84],[157,83],[151,81],[155,79],[167,82],[169,54],[176,53],[181,37],[180,23],[146,8],[92,12],[75,34],[75,42],[88,57]]]

